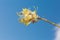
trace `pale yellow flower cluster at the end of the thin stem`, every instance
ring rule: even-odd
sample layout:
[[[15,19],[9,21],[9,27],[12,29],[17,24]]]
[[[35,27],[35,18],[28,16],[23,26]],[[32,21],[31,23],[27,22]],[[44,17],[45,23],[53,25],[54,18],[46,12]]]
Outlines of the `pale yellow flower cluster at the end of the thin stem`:
[[[20,13],[24,16],[23,18],[19,19],[19,22],[24,23],[25,25],[29,25],[31,22],[37,21],[38,15],[35,11],[31,11],[27,8],[24,8]]]

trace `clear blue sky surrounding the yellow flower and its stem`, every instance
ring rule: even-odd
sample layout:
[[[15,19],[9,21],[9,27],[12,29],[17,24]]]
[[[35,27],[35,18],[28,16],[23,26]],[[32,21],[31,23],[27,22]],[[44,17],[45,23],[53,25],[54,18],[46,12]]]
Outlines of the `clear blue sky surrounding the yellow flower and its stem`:
[[[0,40],[54,40],[53,25],[44,21],[28,27],[18,22],[16,12],[38,6],[37,14],[60,22],[60,0],[0,0]]]

